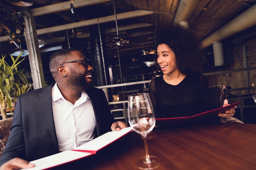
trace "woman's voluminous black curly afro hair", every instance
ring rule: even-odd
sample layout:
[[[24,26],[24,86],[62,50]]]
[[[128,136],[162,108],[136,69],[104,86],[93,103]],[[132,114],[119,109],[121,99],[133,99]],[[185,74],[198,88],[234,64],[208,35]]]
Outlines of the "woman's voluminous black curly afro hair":
[[[180,25],[162,28],[156,34],[156,46],[168,45],[176,57],[178,70],[183,74],[201,72],[204,63],[204,52],[198,37]]]

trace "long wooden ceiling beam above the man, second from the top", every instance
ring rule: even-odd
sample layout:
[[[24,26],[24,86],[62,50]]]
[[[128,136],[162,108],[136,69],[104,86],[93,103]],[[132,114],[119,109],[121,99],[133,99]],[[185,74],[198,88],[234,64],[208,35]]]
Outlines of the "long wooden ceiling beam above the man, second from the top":
[[[126,13],[119,13],[117,14],[117,20],[124,20],[128,18],[133,18],[133,17],[140,17],[144,15],[150,15],[153,14],[153,11],[145,11],[145,10],[137,10],[137,11],[130,11]],[[98,21],[99,20],[99,21]],[[73,29],[81,26],[89,26],[89,25],[94,25],[94,24],[101,24],[101,23],[106,23],[106,22],[111,22],[115,21],[115,15],[110,15],[106,17],[101,17],[101,18],[95,18],[92,20],[85,20],[85,21],[80,21],[80,22],[75,22],[71,24],[66,24],[66,25],[60,25],[60,26],[53,26],[49,28],[43,28],[37,30],[37,35],[42,35],[42,34],[47,34],[47,33],[53,33],[57,31],[63,31],[63,30],[68,30],[68,29]]]

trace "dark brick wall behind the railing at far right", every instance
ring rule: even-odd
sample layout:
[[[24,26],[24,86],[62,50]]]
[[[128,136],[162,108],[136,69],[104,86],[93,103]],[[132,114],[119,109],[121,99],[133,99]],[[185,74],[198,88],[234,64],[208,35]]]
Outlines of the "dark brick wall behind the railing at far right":
[[[244,46],[247,57],[247,68],[256,67],[256,35],[238,42],[234,42],[233,44],[223,44],[223,46],[225,55],[225,69],[234,70],[245,68],[243,58]],[[233,72],[230,74],[217,74],[215,76],[207,76],[207,79],[210,85],[214,85],[213,83],[216,83],[216,85],[225,85],[234,89],[247,87],[245,81],[246,75],[248,76],[248,86],[252,86],[254,74],[256,74],[256,70],[249,70],[247,72]],[[238,95],[238,92],[232,93],[234,95]],[[246,91],[242,91],[242,94],[246,93]]]

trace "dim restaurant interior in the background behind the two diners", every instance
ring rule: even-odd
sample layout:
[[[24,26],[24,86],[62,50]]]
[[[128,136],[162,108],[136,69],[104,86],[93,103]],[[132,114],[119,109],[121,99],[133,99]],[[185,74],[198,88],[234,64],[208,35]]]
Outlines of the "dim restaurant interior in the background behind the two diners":
[[[25,19],[24,35],[0,32],[0,53],[25,60],[34,88],[50,85],[50,55],[79,48],[94,68],[93,85],[105,92],[113,115],[125,120],[129,94],[148,92],[161,74],[155,33],[182,24],[202,41],[209,85],[225,85],[235,117],[256,123],[256,0],[2,0]],[[11,18],[9,18],[9,21]],[[0,20],[1,23],[1,20]],[[1,26],[1,25],[0,25]],[[33,72],[33,70],[35,70]]]

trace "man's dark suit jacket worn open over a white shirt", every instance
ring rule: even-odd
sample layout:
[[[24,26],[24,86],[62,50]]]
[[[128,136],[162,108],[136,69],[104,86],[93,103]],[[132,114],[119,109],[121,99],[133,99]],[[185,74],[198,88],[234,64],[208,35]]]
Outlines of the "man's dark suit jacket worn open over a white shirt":
[[[89,87],[86,92],[94,109],[97,137],[111,130],[114,118],[101,89]],[[56,153],[59,148],[52,113],[52,86],[19,96],[0,165],[14,157],[31,161]]]

